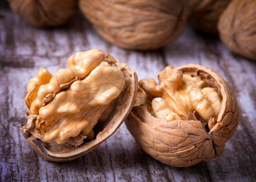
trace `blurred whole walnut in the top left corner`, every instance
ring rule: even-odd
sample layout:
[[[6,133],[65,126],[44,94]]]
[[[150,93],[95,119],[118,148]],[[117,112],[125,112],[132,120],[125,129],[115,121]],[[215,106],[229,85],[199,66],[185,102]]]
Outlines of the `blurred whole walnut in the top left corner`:
[[[65,24],[76,12],[78,0],[8,0],[12,11],[36,27]]]

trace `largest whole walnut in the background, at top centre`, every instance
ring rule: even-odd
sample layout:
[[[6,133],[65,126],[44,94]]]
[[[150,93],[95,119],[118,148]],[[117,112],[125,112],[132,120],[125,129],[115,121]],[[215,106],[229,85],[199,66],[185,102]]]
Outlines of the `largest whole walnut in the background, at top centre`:
[[[186,24],[186,0],[80,0],[98,33],[124,49],[148,50],[177,39]]]

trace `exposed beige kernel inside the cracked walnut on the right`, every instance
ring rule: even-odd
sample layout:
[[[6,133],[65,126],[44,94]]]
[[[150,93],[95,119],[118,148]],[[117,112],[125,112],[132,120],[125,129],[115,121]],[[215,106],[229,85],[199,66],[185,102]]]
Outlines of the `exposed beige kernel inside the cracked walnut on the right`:
[[[207,98],[204,98],[204,95],[202,94],[203,89],[207,89],[209,87],[206,87],[206,83],[200,77],[183,75],[182,71],[171,66],[166,67],[158,74],[158,77],[160,81],[159,85],[157,85],[157,82],[152,78],[139,81],[139,86],[148,95],[152,98],[157,97],[152,100],[154,112],[156,110],[158,112],[163,112],[160,108],[164,109],[164,107],[166,107],[167,110],[172,110],[173,119],[182,118],[183,120],[186,120],[186,118],[188,118],[188,114],[193,110],[200,110],[201,112],[204,112],[212,109],[212,102]],[[202,98],[200,98],[200,100],[198,98],[198,94],[195,94],[195,92],[201,93]],[[216,90],[215,93],[217,93]],[[208,95],[205,94],[205,96],[207,97]],[[199,104],[200,107],[197,107]],[[204,104],[204,107],[201,107],[202,104]],[[218,104],[220,104],[220,102],[218,102]],[[218,108],[215,110],[218,110]],[[158,115],[158,113],[155,112],[155,115]],[[203,115],[207,114],[204,113]],[[210,118],[211,116],[209,115],[205,116],[206,120]]]

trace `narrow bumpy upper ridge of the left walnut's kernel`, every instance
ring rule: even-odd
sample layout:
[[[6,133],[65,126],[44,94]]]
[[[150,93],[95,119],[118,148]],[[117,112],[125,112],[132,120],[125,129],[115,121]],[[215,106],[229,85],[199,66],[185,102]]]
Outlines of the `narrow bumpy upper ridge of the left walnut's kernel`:
[[[105,57],[103,51],[92,49],[77,52],[67,60],[67,69],[58,69],[49,83],[38,90],[38,97],[32,102],[29,114],[39,114],[39,109],[48,104],[58,93],[70,87],[76,80],[82,80],[95,69]]]

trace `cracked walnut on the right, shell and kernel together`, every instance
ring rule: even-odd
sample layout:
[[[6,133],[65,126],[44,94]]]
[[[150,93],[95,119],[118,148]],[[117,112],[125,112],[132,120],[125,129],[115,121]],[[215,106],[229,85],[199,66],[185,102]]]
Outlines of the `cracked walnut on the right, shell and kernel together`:
[[[166,67],[139,81],[126,126],[137,144],[170,166],[192,166],[220,156],[239,123],[238,103],[225,80],[196,64]]]

